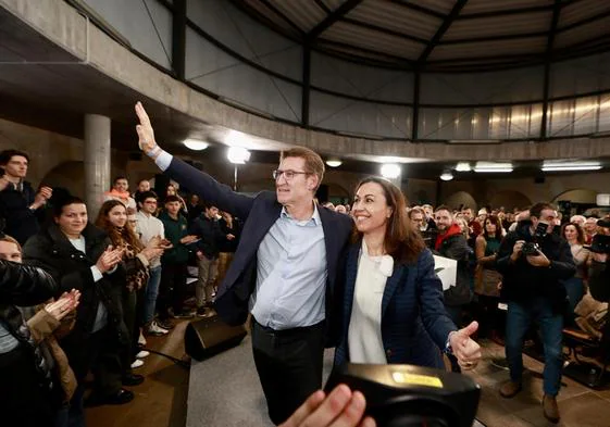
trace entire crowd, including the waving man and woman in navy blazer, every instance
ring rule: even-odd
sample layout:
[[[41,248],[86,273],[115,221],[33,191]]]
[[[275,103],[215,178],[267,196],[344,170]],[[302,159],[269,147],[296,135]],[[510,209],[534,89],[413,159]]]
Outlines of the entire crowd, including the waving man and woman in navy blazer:
[[[85,404],[129,402],[128,387],[145,380],[136,369],[146,338],[216,312],[229,324],[249,319],[276,425],[374,425],[361,419],[361,393],[316,391],[325,347],[336,348],[336,365],[444,368],[446,354],[461,372],[481,359],[475,340],[491,338],[506,346],[510,379],[499,392],[511,398],[533,323],[545,351],[544,414],[559,420],[563,325],[581,325],[578,304],[598,297],[587,281],[608,276],[607,255],[587,247],[610,235],[597,218],[562,222],[545,202],[476,216],[469,206],[409,208],[377,177],[358,185],[351,205],[322,205],[324,163],[306,148],[283,153],[275,192],[248,197],[163,151],[139,103],[136,113],[140,148],[176,184],[159,197],[146,179],[132,193],[116,177],[95,221],[64,190],[34,191],[26,153],[0,153],[0,402],[16,425],[84,426]],[[434,256],[457,262],[450,286]]]

